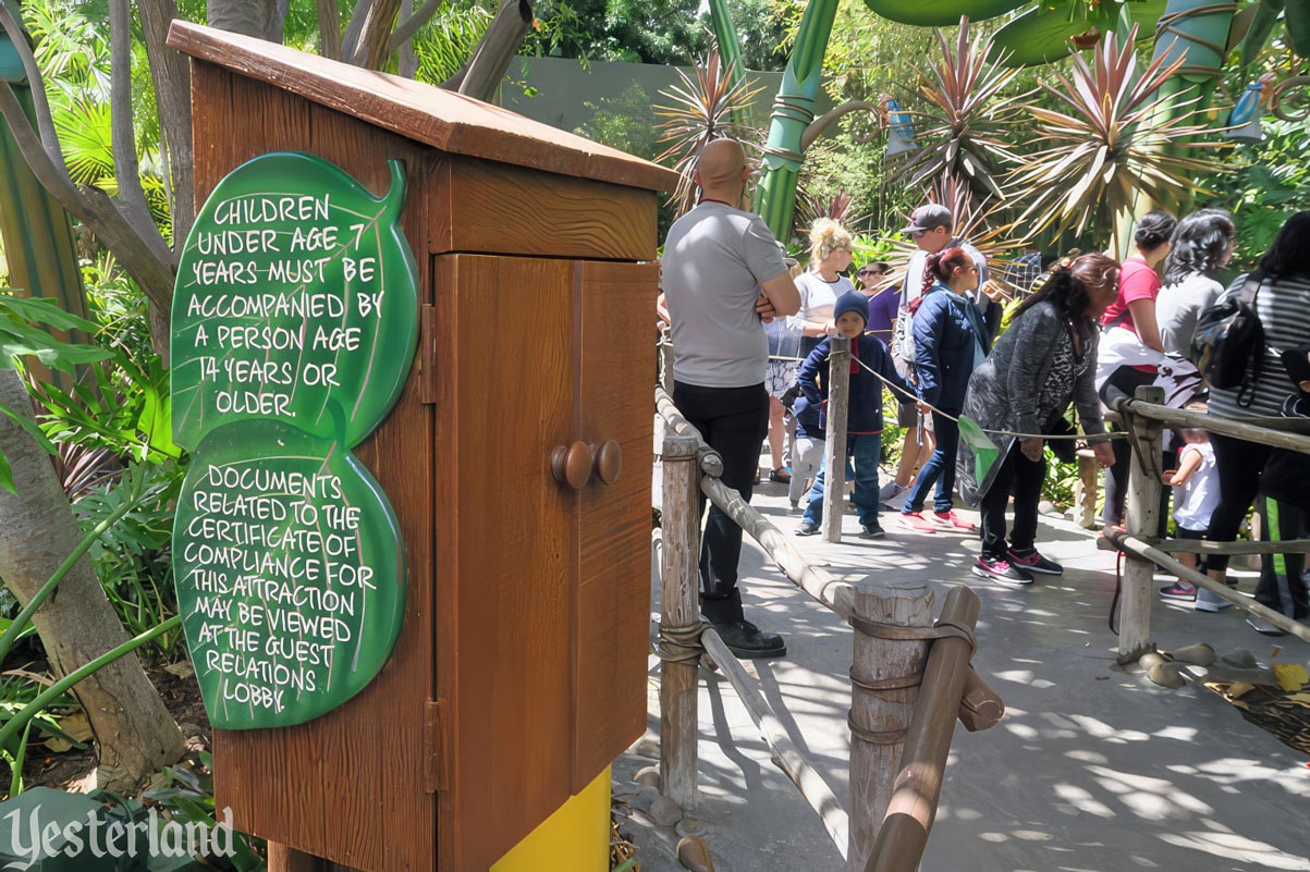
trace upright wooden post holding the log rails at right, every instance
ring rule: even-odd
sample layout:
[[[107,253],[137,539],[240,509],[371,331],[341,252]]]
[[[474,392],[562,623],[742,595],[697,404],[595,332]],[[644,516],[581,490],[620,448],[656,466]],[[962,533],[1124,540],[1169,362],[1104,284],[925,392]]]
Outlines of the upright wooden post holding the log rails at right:
[[[1137,389],[1134,399],[1163,403],[1165,390],[1154,385]],[[1133,440],[1132,466],[1128,473],[1128,501],[1124,528],[1140,539],[1155,536],[1159,526],[1159,498],[1165,484],[1159,481],[1163,427],[1159,422],[1134,415],[1131,406],[1120,406],[1124,428]],[[1155,597],[1155,564],[1137,554],[1128,554],[1124,567],[1123,596],[1119,615],[1119,663],[1133,663],[1154,645],[1150,640],[1150,609]]]

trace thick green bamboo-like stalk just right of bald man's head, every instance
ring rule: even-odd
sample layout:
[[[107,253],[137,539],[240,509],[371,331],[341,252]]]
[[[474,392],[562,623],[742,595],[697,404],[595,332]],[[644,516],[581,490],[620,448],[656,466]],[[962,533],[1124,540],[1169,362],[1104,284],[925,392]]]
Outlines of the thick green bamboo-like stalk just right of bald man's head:
[[[779,240],[791,238],[796,211],[796,182],[804,160],[802,139],[815,119],[815,102],[823,85],[823,56],[837,17],[837,0],[810,0],[791,60],[782,73],[782,86],[773,102],[764,170],[755,195],[755,211]]]

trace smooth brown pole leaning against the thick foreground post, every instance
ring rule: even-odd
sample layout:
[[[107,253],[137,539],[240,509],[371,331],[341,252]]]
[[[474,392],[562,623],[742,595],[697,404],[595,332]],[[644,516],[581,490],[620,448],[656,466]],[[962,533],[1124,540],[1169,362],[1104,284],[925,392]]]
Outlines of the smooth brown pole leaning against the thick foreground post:
[[[938,626],[955,627],[960,635],[934,640],[927,653],[896,788],[863,872],[913,872],[924,856],[973,653],[964,635],[972,636],[980,606],[969,588],[955,587],[946,594]]]

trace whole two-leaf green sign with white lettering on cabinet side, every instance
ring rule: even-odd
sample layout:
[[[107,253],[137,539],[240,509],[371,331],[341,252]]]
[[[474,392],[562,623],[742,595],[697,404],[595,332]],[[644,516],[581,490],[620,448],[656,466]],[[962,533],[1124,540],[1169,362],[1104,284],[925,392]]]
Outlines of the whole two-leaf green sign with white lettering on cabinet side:
[[[400,398],[418,335],[390,170],[377,199],[312,154],[257,157],[210,195],[178,268],[172,422],[193,454],[173,567],[223,729],[331,711],[400,636],[405,547],[350,453]]]

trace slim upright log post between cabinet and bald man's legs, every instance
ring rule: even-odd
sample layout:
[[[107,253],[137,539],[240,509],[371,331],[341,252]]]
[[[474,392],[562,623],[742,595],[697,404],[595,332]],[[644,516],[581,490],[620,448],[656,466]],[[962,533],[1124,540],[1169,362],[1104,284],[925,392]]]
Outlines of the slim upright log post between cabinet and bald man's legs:
[[[660,632],[686,634],[701,622],[697,590],[701,553],[701,466],[696,436],[665,432],[663,445],[664,566]],[[696,808],[698,657],[683,652],[660,665],[660,784],[684,810]]]

